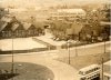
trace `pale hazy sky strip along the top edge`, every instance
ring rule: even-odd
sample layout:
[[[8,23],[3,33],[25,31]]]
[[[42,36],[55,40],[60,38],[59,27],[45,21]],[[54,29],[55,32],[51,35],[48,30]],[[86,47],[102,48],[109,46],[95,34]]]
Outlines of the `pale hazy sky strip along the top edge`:
[[[85,4],[85,3],[101,3],[110,0],[0,0],[3,4],[37,4],[37,6],[53,6],[53,4]]]

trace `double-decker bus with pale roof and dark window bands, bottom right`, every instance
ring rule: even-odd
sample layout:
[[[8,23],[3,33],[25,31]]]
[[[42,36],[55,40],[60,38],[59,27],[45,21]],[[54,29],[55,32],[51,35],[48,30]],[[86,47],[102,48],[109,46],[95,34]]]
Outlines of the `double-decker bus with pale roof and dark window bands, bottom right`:
[[[100,66],[91,64],[79,70],[80,80],[100,80]]]

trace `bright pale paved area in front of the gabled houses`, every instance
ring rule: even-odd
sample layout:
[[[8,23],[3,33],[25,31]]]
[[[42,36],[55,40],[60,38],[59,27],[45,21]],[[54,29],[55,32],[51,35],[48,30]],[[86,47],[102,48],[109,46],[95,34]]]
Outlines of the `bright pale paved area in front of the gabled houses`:
[[[47,48],[47,46],[33,41],[32,38],[17,38],[0,40],[0,50],[29,50],[34,48]]]

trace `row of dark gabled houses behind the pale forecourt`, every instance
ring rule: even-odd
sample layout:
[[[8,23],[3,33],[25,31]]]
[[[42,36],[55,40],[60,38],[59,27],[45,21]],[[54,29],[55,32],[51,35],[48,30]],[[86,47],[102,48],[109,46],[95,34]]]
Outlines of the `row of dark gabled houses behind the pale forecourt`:
[[[32,23],[20,22],[10,14],[0,19],[0,39],[2,38],[26,38],[39,36],[41,29]]]

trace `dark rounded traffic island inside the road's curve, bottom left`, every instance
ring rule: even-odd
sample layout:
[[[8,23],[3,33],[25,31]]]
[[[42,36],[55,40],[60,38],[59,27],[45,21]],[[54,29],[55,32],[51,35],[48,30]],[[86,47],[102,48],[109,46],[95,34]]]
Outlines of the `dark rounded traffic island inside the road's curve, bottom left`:
[[[0,62],[0,80],[53,80],[53,72],[40,64],[14,62]]]

